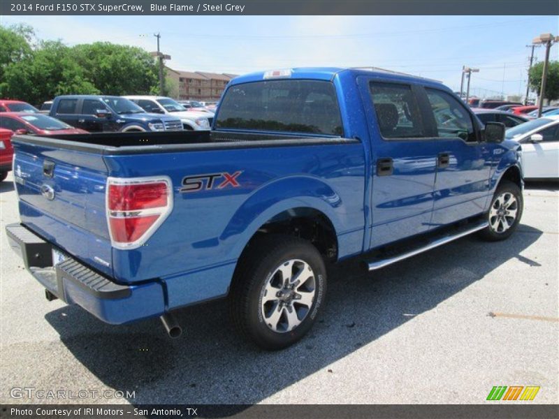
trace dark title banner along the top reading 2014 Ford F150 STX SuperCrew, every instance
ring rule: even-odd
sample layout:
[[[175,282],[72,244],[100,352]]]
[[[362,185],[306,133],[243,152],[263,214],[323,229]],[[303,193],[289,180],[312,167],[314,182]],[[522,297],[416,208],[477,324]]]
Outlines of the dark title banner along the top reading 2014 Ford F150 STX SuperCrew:
[[[559,15],[557,0],[0,0],[1,15]]]

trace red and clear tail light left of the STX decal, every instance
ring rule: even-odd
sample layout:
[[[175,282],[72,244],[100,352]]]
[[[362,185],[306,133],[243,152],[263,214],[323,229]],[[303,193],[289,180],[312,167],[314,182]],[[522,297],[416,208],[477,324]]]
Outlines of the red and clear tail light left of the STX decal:
[[[107,180],[107,221],[117,249],[136,249],[173,210],[173,188],[168,177]]]

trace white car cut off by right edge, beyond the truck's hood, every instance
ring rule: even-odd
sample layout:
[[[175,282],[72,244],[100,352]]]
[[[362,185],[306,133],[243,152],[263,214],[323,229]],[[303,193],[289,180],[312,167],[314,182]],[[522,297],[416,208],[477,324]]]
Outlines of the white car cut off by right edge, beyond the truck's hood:
[[[509,128],[505,137],[521,143],[526,179],[559,179],[559,115]]]

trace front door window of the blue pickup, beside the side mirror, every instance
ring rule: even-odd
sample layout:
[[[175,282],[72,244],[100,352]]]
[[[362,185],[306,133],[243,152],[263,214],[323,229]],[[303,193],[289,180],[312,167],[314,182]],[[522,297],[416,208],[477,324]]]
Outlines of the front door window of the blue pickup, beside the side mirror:
[[[437,137],[477,140],[472,117],[457,98],[442,90],[426,88],[425,91],[437,124]]]

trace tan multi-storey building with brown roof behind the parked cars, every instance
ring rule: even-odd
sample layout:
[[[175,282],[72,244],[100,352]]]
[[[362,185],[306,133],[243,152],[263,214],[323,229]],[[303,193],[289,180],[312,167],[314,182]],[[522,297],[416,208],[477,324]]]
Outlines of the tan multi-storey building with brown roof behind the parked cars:
[[[179,100],[216,102],[235,74],[204,73],[202,71],[180,71],[167,67],[167,79],[176,86],[172,96]]]

